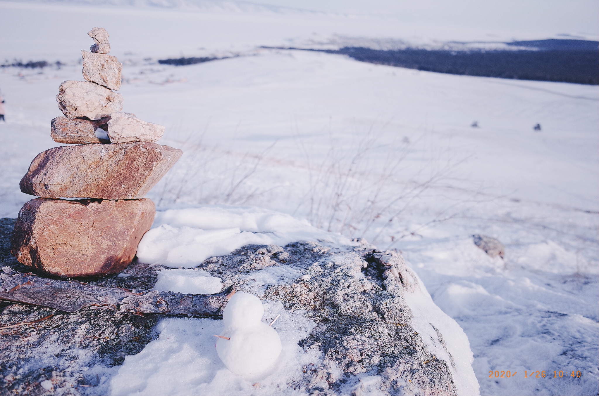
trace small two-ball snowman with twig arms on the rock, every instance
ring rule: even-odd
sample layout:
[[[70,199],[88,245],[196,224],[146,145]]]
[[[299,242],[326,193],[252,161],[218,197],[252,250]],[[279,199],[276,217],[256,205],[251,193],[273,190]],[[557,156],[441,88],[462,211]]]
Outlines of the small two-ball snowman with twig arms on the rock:
[[[225,328],[217,336],[216,352],[226,367],[239,376],[267,373],[281,353],[279,334],[261,321],[262,315],[262,301],[252,294],[237,292],[226,304]]]

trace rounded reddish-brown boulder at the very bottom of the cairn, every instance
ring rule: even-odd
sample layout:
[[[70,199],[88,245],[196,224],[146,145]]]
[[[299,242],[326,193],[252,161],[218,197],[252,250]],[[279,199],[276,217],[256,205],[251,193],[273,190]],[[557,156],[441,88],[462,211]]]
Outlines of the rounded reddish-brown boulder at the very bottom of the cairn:
[[[19,212],[12,252],[21,263],[58,276],[121,272],[155,213],[149,199],[37,198]]]

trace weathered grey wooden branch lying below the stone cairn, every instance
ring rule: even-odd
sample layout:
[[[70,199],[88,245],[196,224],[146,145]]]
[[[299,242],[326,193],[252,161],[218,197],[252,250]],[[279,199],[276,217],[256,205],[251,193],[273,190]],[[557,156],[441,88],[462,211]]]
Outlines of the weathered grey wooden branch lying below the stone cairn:
[[[77,281],[57,281],[3,267],[0,272],[0,300],[52,307],[65,312],[92,309],[120,309],[126,312],[165,315],[221,316],[229,298],[230,286],[217,294],[183,294],[160,290],[131,290],[100,287]]]

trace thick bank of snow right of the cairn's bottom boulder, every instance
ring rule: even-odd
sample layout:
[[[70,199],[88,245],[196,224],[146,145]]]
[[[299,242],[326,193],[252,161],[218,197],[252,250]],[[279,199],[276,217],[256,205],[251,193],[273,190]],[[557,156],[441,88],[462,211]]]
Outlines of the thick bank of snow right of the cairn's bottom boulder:
[[[325,233],[305,220],[258,208],[168,209],[156,214],[154,225],[137,249],[142,263],[192,268],[207,258],[229,254],[244,245],[286,245],[320,239],[355,245],[347,237]]]

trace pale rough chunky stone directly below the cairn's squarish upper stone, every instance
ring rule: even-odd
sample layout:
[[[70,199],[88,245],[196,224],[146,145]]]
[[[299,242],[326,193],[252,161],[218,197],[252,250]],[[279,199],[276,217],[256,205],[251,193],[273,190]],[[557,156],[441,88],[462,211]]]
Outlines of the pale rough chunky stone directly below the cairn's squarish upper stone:
[[[56,95],[58,108],[68,118],[99,120],[123,109],[123,96],[89,81],[65,81]]]

